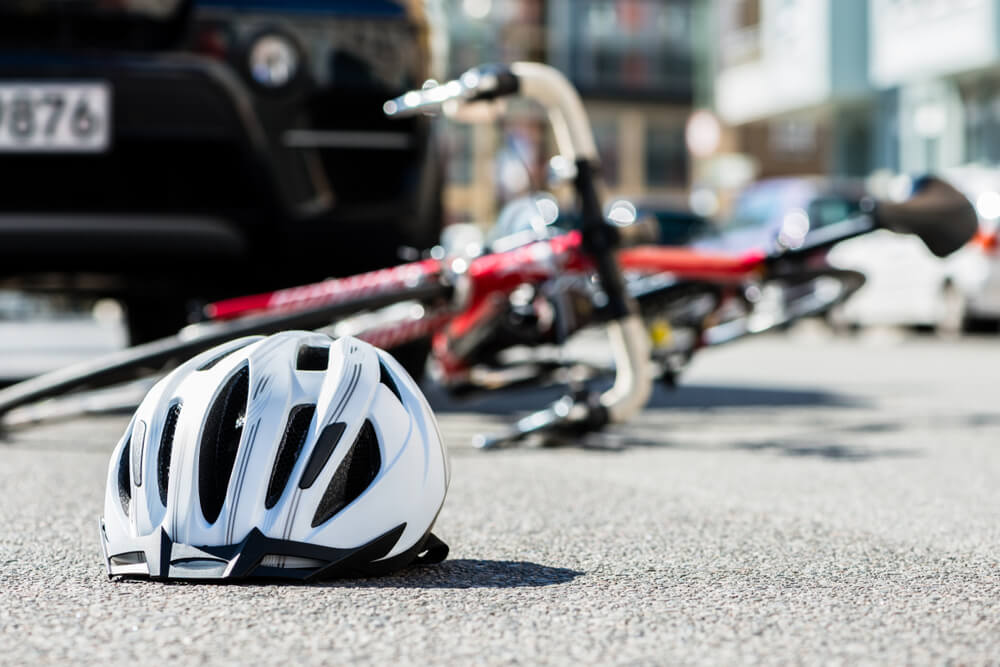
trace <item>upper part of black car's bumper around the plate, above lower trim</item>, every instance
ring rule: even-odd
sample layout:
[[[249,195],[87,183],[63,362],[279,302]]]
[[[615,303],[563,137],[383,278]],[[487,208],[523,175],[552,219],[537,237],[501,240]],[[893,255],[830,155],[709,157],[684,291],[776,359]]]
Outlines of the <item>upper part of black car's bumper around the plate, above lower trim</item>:
[[[55,200],[66,211],[152,206],[266,223],[383,202],[416,192],[422,179],[429,125],[389,125],[379,91],[338,101],[337,90],[322,89],[279,103],[223,62],[185,52],[0,50],[3,81],[100,81],[112,112],[107,152],[0,152],[5,211],[48,211]],[[321,113],[330,108],[338,114]]]

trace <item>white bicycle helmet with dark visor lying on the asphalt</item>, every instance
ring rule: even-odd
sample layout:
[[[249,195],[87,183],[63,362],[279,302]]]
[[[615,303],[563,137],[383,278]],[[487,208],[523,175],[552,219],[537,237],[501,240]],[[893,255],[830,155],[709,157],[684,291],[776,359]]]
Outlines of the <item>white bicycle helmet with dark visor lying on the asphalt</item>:
[[[110,577],[320,579],[437,563],[449,471],[437,422],[389,354],[289,331],[160,380],[111,457]]]

